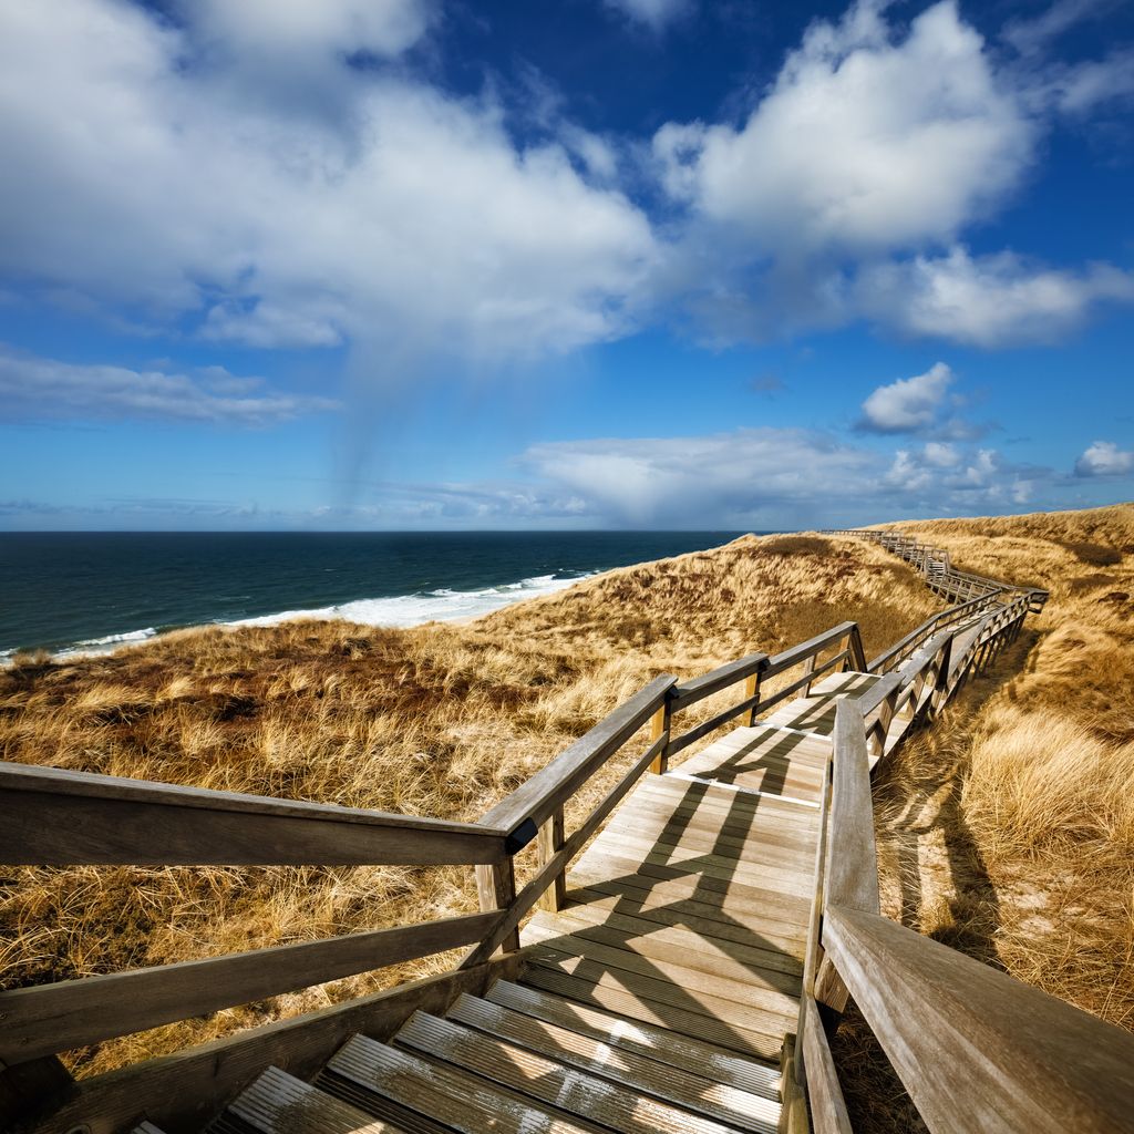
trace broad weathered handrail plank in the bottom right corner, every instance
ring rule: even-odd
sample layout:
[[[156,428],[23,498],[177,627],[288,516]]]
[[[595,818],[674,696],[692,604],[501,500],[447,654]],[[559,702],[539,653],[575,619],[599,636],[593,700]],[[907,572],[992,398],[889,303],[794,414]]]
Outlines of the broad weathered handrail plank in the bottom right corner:
[[[1129,1032],[877,914],[823,946],[934,1134],[1134,1129]]]

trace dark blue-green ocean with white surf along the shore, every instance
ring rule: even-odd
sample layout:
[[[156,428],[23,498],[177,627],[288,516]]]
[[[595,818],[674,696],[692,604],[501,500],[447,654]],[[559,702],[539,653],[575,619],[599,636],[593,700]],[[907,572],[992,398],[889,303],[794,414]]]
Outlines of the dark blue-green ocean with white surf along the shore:
[[[0,533],[0,661],[184,626],[473,618],[739,532]]]

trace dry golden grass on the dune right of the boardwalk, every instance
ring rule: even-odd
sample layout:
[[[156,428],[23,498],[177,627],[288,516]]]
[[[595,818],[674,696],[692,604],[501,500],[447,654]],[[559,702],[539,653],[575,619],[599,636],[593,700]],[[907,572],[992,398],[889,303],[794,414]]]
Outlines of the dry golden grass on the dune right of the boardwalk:
[[[1134,506],[896,526],[1051,598],[878,778],[885,912],[1134,1027]],[[869,1049],[852,1017],[852,1106],[921,1128]]]

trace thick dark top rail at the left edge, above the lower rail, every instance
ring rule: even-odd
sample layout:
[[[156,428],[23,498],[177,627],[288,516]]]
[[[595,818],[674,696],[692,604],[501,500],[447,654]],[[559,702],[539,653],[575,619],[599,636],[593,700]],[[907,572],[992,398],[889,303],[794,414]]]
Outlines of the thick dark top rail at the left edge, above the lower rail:
[[[471,864],[500,831],[331,804],[0,764],[0,862],[209,866]]]

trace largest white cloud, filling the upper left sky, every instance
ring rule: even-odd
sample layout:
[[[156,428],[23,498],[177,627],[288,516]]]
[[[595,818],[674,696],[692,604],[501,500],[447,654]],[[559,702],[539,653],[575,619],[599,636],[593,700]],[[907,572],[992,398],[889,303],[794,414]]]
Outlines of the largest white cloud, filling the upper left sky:
[[[408,45],[420,7],[193,11],[177,29],[113,0],[5,6],[0,270],[265,347],[475,364],[633,325],[655,249],[623,194],[561,145],[517,147],[490,98],[342,60]],[[252,79],[249,52],[271,57]],[[295,112],[303,68],[342,112]]]

